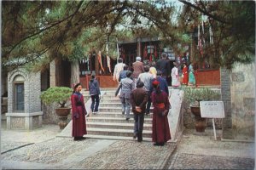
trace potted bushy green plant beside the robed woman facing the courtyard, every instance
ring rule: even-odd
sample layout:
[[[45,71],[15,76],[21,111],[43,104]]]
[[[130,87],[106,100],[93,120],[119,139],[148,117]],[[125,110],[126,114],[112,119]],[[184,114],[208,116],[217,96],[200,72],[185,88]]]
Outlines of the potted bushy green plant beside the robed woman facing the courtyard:
[[[71,108],[67,106],[67,100],[73,92],[72,88],[52,87],[48,88],[40,95],[40,99],[46,105],[55,104],[55,113],[59,116],[61,129],[67,125],[67,116],[70,114]]]

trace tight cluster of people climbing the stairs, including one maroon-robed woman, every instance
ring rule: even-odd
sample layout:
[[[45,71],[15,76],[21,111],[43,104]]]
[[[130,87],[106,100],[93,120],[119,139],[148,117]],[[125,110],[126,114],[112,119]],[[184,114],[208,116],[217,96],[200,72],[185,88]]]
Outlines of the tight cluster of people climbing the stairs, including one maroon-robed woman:
[[[152,139],[155,145],[164,145],[171,139],[167,115],[171,107],[169,90],[166,82],[166,56],[160,59],[155,67],[143,65],[140,57],[132,63],[132,70],[118,59],[115,65],[113,80],[119,82],[115,95],[119,95],[122,103],[122,114],[127,121],[134,116],[133,139],[143,140],[144,116],[149,114],[151,104],[153,110]]]

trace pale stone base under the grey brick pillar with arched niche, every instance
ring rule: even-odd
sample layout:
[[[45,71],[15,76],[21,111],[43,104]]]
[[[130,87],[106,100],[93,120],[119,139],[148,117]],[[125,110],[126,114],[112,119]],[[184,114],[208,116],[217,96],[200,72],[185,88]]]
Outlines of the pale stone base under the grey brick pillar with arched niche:
[[[32,130],[42,127],[42,111],[33,113],[6,113],[7,129]]]

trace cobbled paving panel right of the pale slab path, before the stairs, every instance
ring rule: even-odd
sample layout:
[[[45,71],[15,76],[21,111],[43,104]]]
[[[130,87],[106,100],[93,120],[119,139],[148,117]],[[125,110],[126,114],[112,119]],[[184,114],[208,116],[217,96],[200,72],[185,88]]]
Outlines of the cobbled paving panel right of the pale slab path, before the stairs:
[[[153,146],[150,142],[118,141],[81,161],[77,169],[160,169],[176,144]]]

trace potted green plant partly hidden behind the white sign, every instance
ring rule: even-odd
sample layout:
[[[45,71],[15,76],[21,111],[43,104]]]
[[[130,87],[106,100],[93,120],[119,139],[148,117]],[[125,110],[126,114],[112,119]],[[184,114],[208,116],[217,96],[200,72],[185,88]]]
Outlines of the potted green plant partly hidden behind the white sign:
[[[192,114],[195,116],[196,132],[205,132],[206,118],[201,117],[200,101],[216,101],[220,99],[220,93],[211,88],[183,88],[184,101],[189,104]]]

